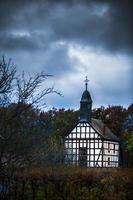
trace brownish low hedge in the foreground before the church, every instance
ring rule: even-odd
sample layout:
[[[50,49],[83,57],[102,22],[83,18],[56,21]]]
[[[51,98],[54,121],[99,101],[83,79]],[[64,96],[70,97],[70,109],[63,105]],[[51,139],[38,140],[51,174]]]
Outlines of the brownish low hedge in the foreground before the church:
[[[12,181],[11,200],[130,200],[132,169],[32,169]]]

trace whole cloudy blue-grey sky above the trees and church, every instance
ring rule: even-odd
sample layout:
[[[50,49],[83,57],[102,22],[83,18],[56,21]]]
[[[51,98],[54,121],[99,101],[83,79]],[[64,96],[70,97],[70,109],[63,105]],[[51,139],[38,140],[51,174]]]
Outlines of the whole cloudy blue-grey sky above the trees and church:
[[[0,56],[18,71],[44,71],[64,97],[48,108],[78,109],[85,88],[93,108],[133,103],[133,2],[129,0],[0,0]]]

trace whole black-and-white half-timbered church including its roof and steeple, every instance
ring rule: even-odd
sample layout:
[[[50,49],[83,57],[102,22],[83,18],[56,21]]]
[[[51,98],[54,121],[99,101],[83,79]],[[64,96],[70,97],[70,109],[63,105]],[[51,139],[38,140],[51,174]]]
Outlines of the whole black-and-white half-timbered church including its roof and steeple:
[[[84,167],[118,167],[119,139],[98,119],[91,117],[92,99],[86,88],[80,101],[80,117],[65,136],[65,163]]]

